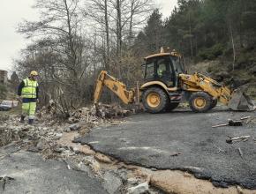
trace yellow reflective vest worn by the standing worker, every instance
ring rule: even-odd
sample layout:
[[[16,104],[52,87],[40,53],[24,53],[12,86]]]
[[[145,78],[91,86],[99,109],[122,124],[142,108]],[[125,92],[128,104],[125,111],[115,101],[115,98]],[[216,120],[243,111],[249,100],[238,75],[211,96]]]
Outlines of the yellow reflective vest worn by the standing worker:
[[[37,81],[30,80],[29,78],[23,79],[24,87],[21,90],[22,98],[35,99],[36,98],[36,87],[38,86]]]

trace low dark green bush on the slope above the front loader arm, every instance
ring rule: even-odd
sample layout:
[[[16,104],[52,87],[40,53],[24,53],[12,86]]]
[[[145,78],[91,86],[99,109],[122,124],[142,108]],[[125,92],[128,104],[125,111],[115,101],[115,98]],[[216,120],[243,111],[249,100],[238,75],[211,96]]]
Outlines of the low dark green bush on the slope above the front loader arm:
[[[223,51],[224,46],[221,43],[218,43],[211,48],[201,49],[198,55],[204,60],[213,60],[216,57],[221,56],[223,54]]]

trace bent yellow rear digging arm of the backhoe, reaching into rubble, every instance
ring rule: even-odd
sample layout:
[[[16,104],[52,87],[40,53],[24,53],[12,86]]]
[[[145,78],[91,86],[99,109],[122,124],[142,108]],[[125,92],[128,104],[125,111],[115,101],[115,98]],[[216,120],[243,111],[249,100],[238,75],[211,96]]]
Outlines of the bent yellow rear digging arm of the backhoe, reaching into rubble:
[[[104,86],[108,87],[113,93],[116,93],[125,104],[134,102],[134,90],[127,90],[124,83],[110,76],[107,71],[102,71],[97,79],[94,91],[94,104],[99,102]]]

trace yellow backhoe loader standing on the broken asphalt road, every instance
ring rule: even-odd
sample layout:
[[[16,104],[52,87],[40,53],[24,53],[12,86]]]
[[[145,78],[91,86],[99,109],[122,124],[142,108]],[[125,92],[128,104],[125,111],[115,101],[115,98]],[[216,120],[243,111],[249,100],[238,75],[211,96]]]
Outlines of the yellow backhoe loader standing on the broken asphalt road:
[[[127,89],[124,83],[102,71],[94,91],[94,104],[102,95],[104,86],[125,104],[140,103],[150,113],[171,111],[183,100],[193,112],[201,113],[215,108],[218,101],[233,110],[254,110],[253,101],[245,95],[245,87],[236,90],[223,86],[200,73],[188,75],[182,56],[175,50],[145,57],[144,84]]]

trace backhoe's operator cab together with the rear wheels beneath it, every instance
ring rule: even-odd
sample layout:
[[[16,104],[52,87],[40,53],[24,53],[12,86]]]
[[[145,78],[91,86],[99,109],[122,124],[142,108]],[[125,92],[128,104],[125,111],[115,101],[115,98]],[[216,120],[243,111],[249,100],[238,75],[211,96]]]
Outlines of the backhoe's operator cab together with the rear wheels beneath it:
[[[183,93],[179,75],[184,73],[182,57],[177,52],[161,52],[145,57],[142,103],[152,113],[177,108]]]

